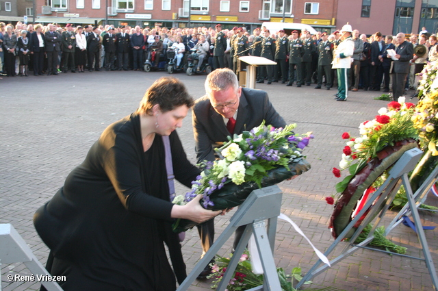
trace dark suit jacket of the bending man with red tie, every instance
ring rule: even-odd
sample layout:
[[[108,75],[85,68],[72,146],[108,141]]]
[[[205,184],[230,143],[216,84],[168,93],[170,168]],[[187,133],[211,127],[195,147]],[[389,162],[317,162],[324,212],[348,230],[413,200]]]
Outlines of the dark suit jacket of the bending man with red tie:
[[[259,126],[263,119],[266,125],[285,127],[283,117],[275,111],[268,98],[268,93],[262,90],[242,88],[240,104],[235,123],[235,134]],[[196,159],[213,161],[214,147],[220,147],[227,141],[230,133],[223,117],[211,106],[207,96],[196,100],[192,112],[193,134],[195,140]]]

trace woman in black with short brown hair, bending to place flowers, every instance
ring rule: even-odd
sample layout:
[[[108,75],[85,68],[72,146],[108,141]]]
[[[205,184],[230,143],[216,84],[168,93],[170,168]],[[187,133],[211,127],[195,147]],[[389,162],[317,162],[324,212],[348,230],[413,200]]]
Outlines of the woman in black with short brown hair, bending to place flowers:
[[[175,179],[190,187],[199,170],[175,129],[192,105],[177,79],[155,81],[138,110],[107,127],[64,187],[36,212],[36,230],[51,249],[47,269],[66,275],[58,282],[65,291],[175,291],[164,249],[164,241],[179,242],[172,219],[201,223],[220,214],[203,209],[199,199],[170,203],[162,137],[169,138]],[[181,246],[177,251],[181,255]]]

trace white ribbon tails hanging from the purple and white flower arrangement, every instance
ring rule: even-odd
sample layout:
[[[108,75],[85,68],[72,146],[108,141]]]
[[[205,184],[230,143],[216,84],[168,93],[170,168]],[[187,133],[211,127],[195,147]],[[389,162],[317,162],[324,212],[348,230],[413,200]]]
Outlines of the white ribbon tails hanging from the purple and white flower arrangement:
[[[318,255],[318,257],[320,258],[320,260],[324,263],[327,264],[329,266],[330,265],[330,261],[329,259],[327,259],[327,257],[321,253],[318,249],[316,249],[316,247],[312,244],[312,242],[309,240],[309,238],[307,238],[307,236],[302,232],[302,230],[300,229],[300,227],[298,227],[298,225],[296,225],[292,219],[290,219],[289,217],[285,216],[285,214],[281,213],[278,216],[279,219],[281,220],[285,220],[288,223],[290,223],[292,225],[292,227],[294,227],[295,231],[300,233],[300,235],[305,238],[307,240],[307,242],[309,242],[309,244],[311,245],[313,251],[315,251],[316,255]],[[251,235],[251,238],[248,242],[248,250],[250,252],[251,255],[251,268],[253,268],[253,273],[255,273],[256,275],[261,275],[263,274],[263,267],[261,266],[261,260],[259,257],[259,251],[257,249],[257,244],[255,243],[255,238],[254,235]]]

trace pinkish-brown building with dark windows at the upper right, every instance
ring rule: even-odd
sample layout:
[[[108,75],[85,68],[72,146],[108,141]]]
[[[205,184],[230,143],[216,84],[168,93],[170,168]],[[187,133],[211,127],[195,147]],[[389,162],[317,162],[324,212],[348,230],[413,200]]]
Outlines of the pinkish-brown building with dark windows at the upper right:
[[[337,24],[350,23],[361,34],[418,34],[438,31],[438,0],[338,0]]]

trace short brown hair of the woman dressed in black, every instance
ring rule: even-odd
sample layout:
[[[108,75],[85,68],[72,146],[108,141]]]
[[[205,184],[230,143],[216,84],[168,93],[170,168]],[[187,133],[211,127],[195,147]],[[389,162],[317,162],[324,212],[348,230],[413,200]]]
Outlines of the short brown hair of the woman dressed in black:
[[[164,113],[182,105],[190,108],[193,106],[194,100],[179,79],[162,77],[146,90],[137,112],[151,115],[152,107],[155,104],[158,104],[160,110]]]

